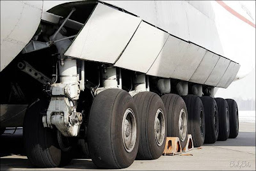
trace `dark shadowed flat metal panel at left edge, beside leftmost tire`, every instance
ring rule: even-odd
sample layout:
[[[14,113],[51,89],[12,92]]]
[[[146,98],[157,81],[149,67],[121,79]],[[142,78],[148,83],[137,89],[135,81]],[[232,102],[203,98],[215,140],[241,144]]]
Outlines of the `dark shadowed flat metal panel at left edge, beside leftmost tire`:
[[[19,127],[28,105],[1,105],[1,128]]]

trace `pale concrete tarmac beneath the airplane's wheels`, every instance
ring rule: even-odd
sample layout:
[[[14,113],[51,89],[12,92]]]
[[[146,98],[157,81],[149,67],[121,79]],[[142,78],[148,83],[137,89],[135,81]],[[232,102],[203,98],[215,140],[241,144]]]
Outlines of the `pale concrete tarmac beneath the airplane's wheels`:
[[[8,130],[11,133],[13,130]],[[8,133],[8,131],[6,131]],[[34,168],[24,154],[22,130],[1,136],[1,170],[97,170],[92,160],[74,159],[63,168]],[[122,170],[255,170],[255,123],[239,123],[237,138],[204,144],[176,156],[135,160]]]

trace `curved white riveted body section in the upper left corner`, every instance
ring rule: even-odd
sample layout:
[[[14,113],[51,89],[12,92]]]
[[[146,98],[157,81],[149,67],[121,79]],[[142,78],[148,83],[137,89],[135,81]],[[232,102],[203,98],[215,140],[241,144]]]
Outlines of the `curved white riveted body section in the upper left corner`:
[[[42,1],[1,1],[1,71],[31,40],[41,13]]]

